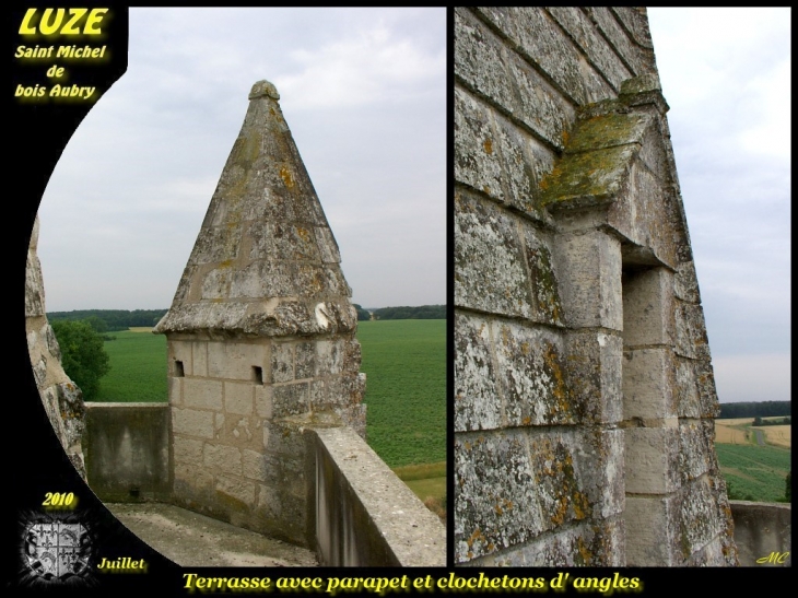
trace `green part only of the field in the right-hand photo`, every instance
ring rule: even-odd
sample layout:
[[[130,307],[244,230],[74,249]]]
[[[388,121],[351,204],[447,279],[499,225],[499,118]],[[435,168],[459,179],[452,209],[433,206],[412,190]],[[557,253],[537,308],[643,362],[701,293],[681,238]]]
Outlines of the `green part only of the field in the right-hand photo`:
[[[788,448],[720,443],[715,448],[729,499],[766,503],[784,500],[785,478],[790,469]]]

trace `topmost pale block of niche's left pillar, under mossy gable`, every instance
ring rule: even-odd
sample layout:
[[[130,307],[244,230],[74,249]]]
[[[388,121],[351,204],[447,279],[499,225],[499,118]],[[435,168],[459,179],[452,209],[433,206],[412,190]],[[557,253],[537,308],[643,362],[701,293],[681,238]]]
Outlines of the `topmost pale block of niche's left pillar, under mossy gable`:
[[[564,234],[554,256],[566,324],[623,330],[620,242],[598,231]]]

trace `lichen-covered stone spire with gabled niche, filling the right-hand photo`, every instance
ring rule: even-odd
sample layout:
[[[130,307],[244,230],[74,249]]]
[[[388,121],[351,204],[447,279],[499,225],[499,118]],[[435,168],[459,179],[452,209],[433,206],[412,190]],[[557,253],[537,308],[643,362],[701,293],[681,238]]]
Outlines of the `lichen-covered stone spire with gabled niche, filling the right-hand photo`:
[[[728,565],[645,9],[455,9],[455,562]]]

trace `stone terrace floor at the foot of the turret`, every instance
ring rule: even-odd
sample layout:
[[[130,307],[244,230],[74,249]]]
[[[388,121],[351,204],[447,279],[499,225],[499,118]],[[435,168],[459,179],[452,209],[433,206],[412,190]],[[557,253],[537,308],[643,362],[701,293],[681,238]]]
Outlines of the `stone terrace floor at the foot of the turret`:
[[[309,550],[163,503],[105,503],[130,531],[180,566],[318,566]]]

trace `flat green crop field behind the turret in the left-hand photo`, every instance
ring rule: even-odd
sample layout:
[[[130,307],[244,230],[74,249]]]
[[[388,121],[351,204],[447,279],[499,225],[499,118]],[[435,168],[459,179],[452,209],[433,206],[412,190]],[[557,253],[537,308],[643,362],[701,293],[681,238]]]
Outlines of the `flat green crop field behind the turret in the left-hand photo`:
[[[99,401],[165,401],[166,338],[113,332]],[[446,320],[361,321],[368,444],[390,467],[446,460]],[[445,491],[445,488],[444,488]]]

